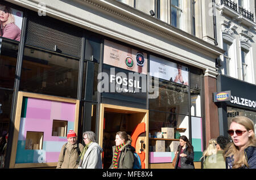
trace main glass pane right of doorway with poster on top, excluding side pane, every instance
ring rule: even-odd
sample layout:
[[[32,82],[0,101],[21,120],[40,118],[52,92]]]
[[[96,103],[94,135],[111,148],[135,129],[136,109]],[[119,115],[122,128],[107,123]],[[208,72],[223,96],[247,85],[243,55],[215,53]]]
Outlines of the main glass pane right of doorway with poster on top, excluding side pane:
[[[171,163],[181,135],[189,138],[188,68],[150,55],[149,162]],[[157,90],[158,89],[158,90]]]

